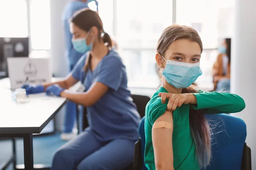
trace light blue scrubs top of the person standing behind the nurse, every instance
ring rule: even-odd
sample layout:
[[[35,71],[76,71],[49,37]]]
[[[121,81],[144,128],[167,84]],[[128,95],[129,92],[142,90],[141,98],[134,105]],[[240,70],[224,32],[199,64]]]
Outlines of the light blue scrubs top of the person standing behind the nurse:
[[[64,36],[65,36],[65,57],[68,59],[68,62],[71,67],[73,67],[76,62],[80,59],[83,53],[77,52],[72,45],[72,34],[70,33],[69,20],[73,14],[83,8],[88,8],[87,3],[80,0],[72,0],[64,8],[62,12],[62,22],[64,24]]]

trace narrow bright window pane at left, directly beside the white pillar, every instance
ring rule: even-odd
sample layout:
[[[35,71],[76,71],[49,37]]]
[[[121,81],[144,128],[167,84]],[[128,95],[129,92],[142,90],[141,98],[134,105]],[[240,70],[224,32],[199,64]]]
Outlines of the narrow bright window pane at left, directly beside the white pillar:
[[[49,50],[51,47],[50,0],[30,0],[31,47]]]

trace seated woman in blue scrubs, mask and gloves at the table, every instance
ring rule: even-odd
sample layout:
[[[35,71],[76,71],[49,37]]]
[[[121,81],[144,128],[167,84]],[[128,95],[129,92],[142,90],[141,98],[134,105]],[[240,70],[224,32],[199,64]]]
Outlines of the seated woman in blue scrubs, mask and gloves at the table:
[[[52,170],[122,170],[132,164],[140,122],[125,66],[111,49],[111,38],[95,11],[84,9],[75,14],[70,30],[74,48],[90,52],[64,81],[39,85],[39,89],[86,107],[89,127],[57,150]],[[85,91],[67,90],[78,81]]]

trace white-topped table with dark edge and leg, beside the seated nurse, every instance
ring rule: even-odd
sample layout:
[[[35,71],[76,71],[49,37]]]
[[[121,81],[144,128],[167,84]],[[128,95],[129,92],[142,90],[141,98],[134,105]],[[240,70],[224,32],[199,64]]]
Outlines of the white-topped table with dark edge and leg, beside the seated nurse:
[[[26,103],[16,103],[9,79],[0,80],[0,137],[23,137],[25,170],[32,170],[34,166],[32,134],[41,133],[66,101],[38,94],[29,96]],[[15,144],[13,147],[15,149]]]

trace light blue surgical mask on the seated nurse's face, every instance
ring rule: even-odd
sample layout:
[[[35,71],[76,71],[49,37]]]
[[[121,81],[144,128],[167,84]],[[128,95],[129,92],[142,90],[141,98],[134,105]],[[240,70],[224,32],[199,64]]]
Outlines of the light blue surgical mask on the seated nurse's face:
[[[90,34],[90,31],[88,31],[85,38],[72,39],[73,47],[77,52],[85,53],[87,51],[91,51],[93,41],[90,43],[90,45],[86,44],[86,38],[88,37],[89,34]]]

